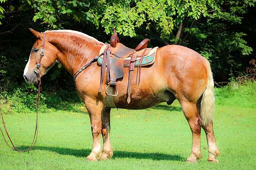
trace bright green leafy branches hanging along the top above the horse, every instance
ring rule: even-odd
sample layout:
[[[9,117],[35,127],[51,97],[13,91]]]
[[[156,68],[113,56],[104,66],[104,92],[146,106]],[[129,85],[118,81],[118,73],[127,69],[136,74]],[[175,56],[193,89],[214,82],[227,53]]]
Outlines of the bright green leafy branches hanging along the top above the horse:
[[[2,0],[3,1],[3,0]],[[5,0],[4,0],[5,1]],[[4,2],[3,1],[3,2]],[[213,15],[221,14],[220,0],[21,0],[20,10],[33,9],[34,22],[48,24],[49,28],[63,28],[62,18],[78,22],[92,22],[103,27],[109,34],[115,27],[119,34],[137,36],[135,28],[143,24],[146,29],[155,29],[162,38],[168,39],[174,28],[184,18],[199,20],[207,17],[208,11]],[[9,6],[13,11],[14,6]],[[4,9],[0,7],[3,14]]]

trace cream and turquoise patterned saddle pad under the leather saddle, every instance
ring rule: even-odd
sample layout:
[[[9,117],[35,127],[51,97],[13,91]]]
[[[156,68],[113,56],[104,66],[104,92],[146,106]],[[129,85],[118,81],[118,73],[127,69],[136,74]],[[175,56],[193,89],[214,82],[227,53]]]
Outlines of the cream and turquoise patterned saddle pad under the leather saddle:
[[[105,45],[103,45],[102,48],[104,49],[104,48],[105,48]],[[154,63],[157,48],[158,48],[158,47],[154,47],[154,48],[149,52],[148,55],[146,55],[146,56],[143,57],[142,63],[141,63],[141,66],[142,66],[142,67],[147,66],[147,65],[151,65],[151,64]],[[102,50],[100,51],[100,53],[102,53]],[[124,67],[129,67],[130,60],[131,60],[131,57],[127,57],[127,58],[124,58],[124,59],[123,59]],[[98,58],[98,64],[99,64],[99,65],[102,65],[102,61],[103,61],[103,55],[102,55],[102,56],[99,56],[99,58]],[[140,62],[140,57],[137,57],[137,61],[135,62],[135,66],[137,66],[137,65],[139,64],[139,62]]]

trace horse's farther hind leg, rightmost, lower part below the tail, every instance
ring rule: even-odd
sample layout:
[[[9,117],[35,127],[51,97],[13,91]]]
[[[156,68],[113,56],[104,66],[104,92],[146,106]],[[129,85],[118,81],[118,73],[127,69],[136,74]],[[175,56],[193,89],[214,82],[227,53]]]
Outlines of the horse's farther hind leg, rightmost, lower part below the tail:
[[[215,159],[215,157],[220,155],[220,151],[218,150],[217,144],[215,142],[213,125],[212,123],[209,123],[209,125],[205,125],[205,126],[203,125],[202,127],[206,133],[206,138],[208,143],[208,151],[209,151],[208,161],[213,161],[218,163],[218,160]]]

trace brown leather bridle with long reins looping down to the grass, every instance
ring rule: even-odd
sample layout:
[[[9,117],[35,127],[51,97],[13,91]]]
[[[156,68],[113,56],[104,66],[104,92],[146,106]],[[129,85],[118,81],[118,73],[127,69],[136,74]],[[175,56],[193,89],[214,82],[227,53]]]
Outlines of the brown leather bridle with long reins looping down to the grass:
[[[12,149],[12,150],[16,150],[18,152],[28,152],[29,150],[31,150],[34,146],[35,146],[35,143],[37,141],[37,136],[38,136],[38,108],[39,108],[39,99],[40,99],[40,90],[41,90],[41,75],[40,75],[40,68],[41,68],[41,60],[42,58],[44,57],[44,45],[45,45],[45,33],[43,33],[43,46],[42,46],[42,49],[41,49],[41,54],[40,54],[40,58],[39,58],[39,61],[37,62],[36,64],[36,68],[34,68],[34,72],[36,74],[36,77],[37,77],[37,85],[38,85],[38,96],[37,96],[37,100],[36,100],[36,123],[35,123],[35,134],[34,134],[34,139],[31,143],[31,145],[29,146],[28,149],[26,150],[18,150],[17,147],[15,147],[15,144],[12,142],[12,139],[7,131],[7,128],[6,128],[6,125],[5,125],[5,122],[4,122],[4,119],[3,119],[3,113],[2,113],[2,110],[1,110],[1,107],[0,107],[0,113],[1,113],[1,117],[2,117],[2,122],[3,122],[3,127],[5,129],[5,132],[6,132],[6,135],[8,136],[9,138],[9,141],[11,142],[12,146],[10,144],[8,144],[5,136],[3,135],[3,130],[1,129],[0,127],[0,131],[2,133],[2,136],[3,136],[3,139],[4,141],[6,142],[6,144]]]

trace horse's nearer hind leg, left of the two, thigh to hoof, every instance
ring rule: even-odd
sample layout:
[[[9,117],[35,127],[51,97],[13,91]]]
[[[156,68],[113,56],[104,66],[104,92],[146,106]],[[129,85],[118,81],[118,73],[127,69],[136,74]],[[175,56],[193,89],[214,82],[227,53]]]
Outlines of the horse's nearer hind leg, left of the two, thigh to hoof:
[[[197,159],[202,158],[200,148],[202,121],[198,114],[196,103],[186,100],[179,100],[179,102],[192,132],[192,150],[189,158],[186,161],[189,163],[197,163]]]

